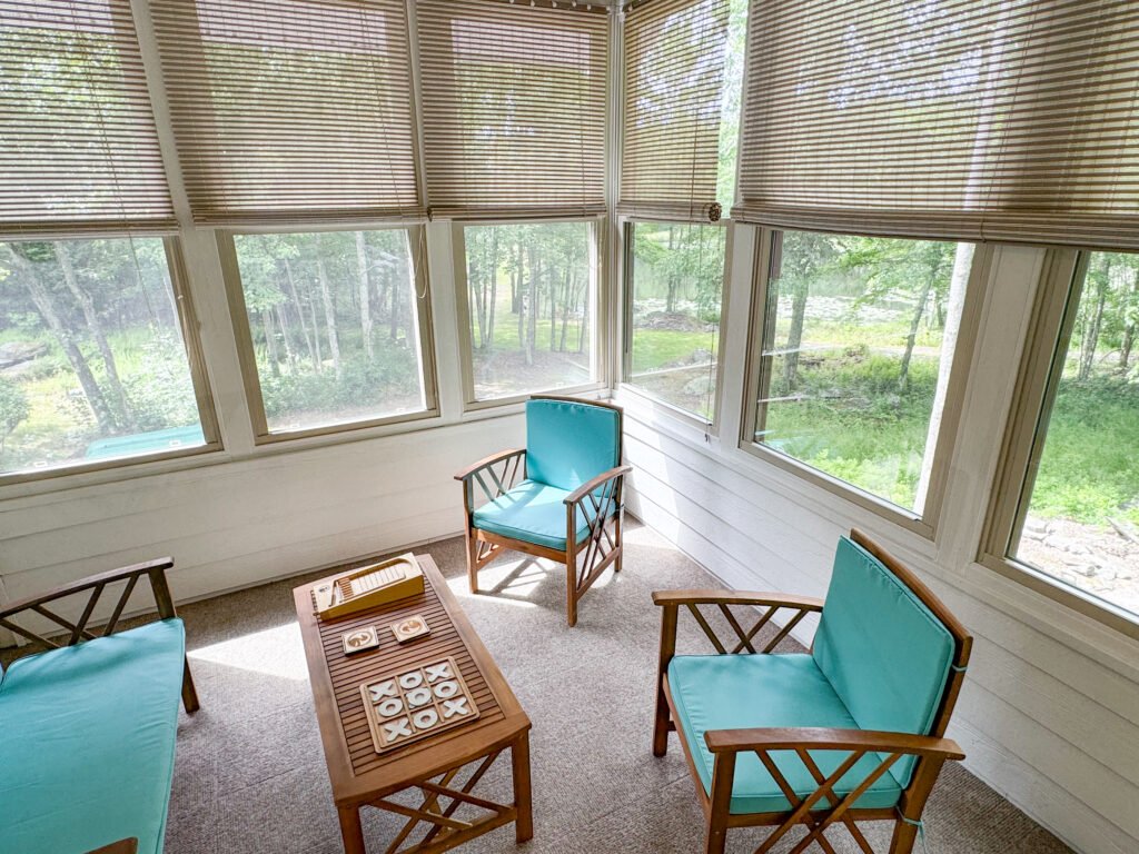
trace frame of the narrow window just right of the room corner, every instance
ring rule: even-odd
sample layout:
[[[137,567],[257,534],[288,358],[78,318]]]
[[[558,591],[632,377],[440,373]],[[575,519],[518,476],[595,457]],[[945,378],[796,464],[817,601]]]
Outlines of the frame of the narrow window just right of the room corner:
[[[656,223],[656,224],[686,224],[686,225],[708,225],[712,228],[723,228],[727,229],[724,232],[724,244],[723,244],[723,276],[720,282],[720,325],[716,331],[716,354],[715,354],[715,389],[712,395],[712,418],[700,418],[696,412],[690,412],[683,407],[678,407],[675,403],[664,400],[659,395],[654,394],[647,388],[642,388],[637,385],[632,379],[632,360],[633,360],[633,320],[632,320],[632,306],[633,306],[633,289],[636,282],[633,281],[633,229],[639,223]],[[720,433],[721,419],[723,416],[723,339],[724,332],[727,331],[728,325],[728,303],[729,294],[731,289],[731,257],[734,249],[734,240],[736,236],[735,223],[731,220],[720,220],[718,222],[680,222],[679,220],[667,220],[657,219],[654,216],[623,216],[620,220],[621,225],[621,247],[622,247],[622,262],[621,262],[621,376],[620,376],[620,388],[622,392],[631,392],[633,394],[640,395],[646,401],[652,403],[654,407],[659,407],[664,409],[670,416],[686,421],[699,429],[704,430],[711,436],[716,436]]]

